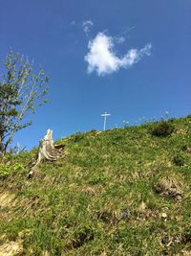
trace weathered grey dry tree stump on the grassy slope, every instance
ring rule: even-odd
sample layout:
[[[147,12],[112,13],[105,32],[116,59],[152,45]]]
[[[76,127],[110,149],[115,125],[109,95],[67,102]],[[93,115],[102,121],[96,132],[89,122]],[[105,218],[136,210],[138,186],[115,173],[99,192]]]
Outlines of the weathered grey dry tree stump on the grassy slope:
[[[62,150],[62,148],[64,148],[63,145],[53,145],[53,130],[48,129],[44,139],[40,140],[39,142],[37,160],[34,166],[32,167],[32,170],[28,174],[28,177],[32,177],[34,171],[37,169],[37,167],[43,160],[57,160],[59,158],[58,150]]]

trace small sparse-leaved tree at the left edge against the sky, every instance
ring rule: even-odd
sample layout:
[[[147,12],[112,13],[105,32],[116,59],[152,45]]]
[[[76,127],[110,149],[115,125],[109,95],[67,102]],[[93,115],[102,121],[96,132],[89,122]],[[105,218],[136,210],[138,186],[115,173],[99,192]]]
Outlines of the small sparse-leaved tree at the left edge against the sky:
[[[34,75],[33,61],[12,51],[1,60],[0,70],[0,154],[5,154],[15,132],[32,125],[23,118],[47,102],[49,78],[41,67]]]

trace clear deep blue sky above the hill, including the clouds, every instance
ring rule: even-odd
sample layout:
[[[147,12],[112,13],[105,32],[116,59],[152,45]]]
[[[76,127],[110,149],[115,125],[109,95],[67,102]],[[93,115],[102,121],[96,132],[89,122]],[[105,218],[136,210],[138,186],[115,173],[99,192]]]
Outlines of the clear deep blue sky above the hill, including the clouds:
[[[55,139],[191,110],[189,0],[0,0],[0,58],[12,48],[51,78],[50,103],[15,136]]]

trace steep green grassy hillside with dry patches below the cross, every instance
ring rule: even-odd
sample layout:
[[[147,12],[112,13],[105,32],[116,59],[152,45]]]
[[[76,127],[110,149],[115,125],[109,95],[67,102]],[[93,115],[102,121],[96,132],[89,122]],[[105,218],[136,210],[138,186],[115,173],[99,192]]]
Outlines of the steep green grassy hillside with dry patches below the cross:
[[[0,163],[0,248],[21,255],[191,255],[191,117],[61,139]],[[1,251],[1,250],[0,250]],[[19,254],[19,253],[18,253]],[[0,254],[3,255],[3,254]],[[16,255],[16,254],[12,254]]]

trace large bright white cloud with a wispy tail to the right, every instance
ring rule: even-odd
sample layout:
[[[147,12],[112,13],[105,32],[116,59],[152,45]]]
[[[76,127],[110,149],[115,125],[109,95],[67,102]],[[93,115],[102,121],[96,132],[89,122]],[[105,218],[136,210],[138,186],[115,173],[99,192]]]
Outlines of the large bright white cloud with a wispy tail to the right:
[[[89,53],[84,58],[88,62],[89,74],[94,71],[98,76],[111,74],[119,68],[130,68],[143,56],[151,55],[152,45],[148,43],[140,50],[130,49],[126,55],[119,58],[114,52],[114,41],[114,37],[104,33],[98,33],[94,40],[89,41]]]

